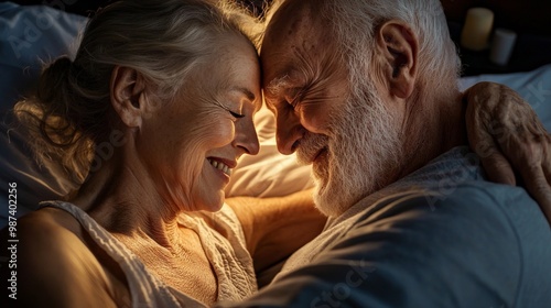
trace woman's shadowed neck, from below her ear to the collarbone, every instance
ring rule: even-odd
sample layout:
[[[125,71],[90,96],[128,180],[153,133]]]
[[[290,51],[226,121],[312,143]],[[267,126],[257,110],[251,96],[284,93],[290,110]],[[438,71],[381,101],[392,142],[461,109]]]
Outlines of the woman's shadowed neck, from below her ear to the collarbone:
[[[69,201],[111,233],[139,233],[165,248],[177,234],[176,209],[163,200],[140,160],[123,148],[102,161]]]

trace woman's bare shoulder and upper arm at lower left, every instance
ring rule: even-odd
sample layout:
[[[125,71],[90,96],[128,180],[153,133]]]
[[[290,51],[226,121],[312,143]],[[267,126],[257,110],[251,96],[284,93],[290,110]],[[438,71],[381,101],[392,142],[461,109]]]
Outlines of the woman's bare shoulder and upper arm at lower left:
[[[18,295],[26,304],[74,307],[91,294],[109,299],[106,273],[79,229],[69,213],[44,208],[1,231],[13,248],[1,257],[13,260],[9,274],[17,276]]]

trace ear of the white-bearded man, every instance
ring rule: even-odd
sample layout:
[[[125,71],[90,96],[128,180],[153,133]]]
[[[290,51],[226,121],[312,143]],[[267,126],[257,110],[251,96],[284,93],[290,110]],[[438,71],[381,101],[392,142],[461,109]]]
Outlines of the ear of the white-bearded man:
[[[419,41],[403,22],[390,20],[376,32],[377,50],[381,55],[385,78],[390,94],[408,98],[413,92],[417,76]]]

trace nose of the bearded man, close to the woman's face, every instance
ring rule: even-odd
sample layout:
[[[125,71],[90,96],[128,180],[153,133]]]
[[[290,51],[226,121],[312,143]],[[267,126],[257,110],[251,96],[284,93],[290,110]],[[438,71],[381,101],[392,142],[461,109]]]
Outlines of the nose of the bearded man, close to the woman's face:
[[[293,154],[305,130],[299,117],[291,112],[288,114],[278,114],[276,123],[276,141],[278,142],[279,152],[284,155]]]

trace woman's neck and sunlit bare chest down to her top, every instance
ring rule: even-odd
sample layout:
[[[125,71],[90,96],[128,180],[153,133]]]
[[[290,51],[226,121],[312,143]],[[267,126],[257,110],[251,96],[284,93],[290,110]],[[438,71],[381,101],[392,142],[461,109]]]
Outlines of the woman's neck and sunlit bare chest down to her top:
[[[128,151],[131,152],[131,151]],[[214,305],[216,274],[198,234],[177,223],[139,160],[116,153],[71,199],[166,285]]]

